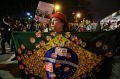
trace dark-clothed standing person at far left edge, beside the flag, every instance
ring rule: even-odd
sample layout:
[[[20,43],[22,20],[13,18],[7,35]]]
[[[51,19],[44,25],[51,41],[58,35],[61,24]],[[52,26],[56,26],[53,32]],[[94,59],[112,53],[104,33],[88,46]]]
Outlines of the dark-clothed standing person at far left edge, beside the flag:
[[[10,17],[3,18],[3,22],[1,23],[0,31],[1,31],[1,47],[2,47],[2,54],[6,53],[5,43],[7,42],[10,45],[11,40],[11,28],[12,20]]]

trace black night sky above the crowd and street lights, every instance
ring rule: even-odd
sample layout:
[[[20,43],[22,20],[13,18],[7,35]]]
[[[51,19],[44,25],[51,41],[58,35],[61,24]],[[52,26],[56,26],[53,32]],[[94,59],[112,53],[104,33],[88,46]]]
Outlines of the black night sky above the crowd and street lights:
[[[53,3],[53,0],[42,0]],[[0,18],[4,16],[24,17],[26,12],[35,13],[39,0],[2,0],[0,2]],[[95,21],[120,10],[120,0],[54,0],[62,5],[62,12],[70,19],[72,12],[81,11]]]

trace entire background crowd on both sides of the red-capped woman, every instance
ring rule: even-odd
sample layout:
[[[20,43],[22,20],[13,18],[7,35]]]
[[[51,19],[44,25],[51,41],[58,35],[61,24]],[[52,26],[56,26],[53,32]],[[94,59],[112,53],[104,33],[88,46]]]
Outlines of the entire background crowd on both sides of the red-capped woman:
[[[50,22],[51,21],[52,20],[50,20]],[[90,20],[83,20],[80,23],[66,23],[65,26],[67,27],[67,31],[70,32],[97,32],[115,30],[120,27],[120,22],[96,23]],[[12,45],[11,33],[13,31],[35,32],[40,30],[41,32],[50,32],[54,29],[55,27],[52,27],[50,23],[36,22],[34,20],[28,21],[24,19],[16,20],[11,17],[4,17],[0,23],[2,54],[6,53],[5,42]],[[13,46],[11,46],[11,51],[12,50]]]

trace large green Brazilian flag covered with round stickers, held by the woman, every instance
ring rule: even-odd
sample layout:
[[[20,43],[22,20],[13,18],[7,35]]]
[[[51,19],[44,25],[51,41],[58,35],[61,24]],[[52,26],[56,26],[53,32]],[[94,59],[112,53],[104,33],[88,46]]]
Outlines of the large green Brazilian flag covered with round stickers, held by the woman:
[[[120,49],[120,30],[14,32],[22,79],[108,79]]]

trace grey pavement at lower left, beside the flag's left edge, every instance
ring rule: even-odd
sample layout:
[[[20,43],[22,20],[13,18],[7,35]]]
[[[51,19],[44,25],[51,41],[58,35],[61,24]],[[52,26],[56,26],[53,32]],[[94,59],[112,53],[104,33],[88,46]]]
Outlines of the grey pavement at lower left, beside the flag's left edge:
[[[18,62],[17,60],[11,61],[15,57],[15,54],[14,52],[10,52],[8,44],[6,44],[6,52],[6,54],[0,55],[0,79],[20,79]]]

